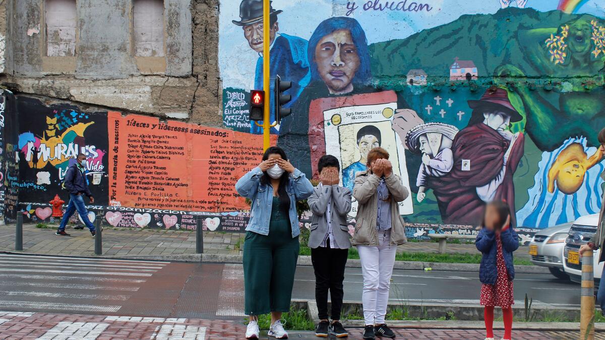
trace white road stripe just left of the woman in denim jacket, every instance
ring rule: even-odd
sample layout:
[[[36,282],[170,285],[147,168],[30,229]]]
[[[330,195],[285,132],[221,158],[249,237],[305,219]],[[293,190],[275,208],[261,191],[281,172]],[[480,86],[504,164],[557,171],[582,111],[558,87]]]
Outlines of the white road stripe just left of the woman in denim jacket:
[[[241,264],[225,264],[221,278],[216,316],[246,316],[244,306],[244,268]]]

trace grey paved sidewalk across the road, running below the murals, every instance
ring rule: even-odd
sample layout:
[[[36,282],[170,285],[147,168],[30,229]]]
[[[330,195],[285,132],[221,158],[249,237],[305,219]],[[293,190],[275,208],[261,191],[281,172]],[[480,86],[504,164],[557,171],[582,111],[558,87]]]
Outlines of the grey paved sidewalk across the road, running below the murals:
[[[93,256],[94,239],[88,229],[67,229],[71,237],[54,235],[56,226],[39,229],[34,224],[23,226],[23,251],[46,255]],[[204,232],[204,253],[241,255],[245,234]],[[103,255],[145,256],[186,255],[195,253],[195,231],[162,229],[103,229]],[[435,242],[408,242],[399,252],[437,253]],[[0,226],[0,250],[15,250],[15,225]],[[474,244],[448,243],[447,253],[476,253]],[[523,248],[515,257],[529,259]]]

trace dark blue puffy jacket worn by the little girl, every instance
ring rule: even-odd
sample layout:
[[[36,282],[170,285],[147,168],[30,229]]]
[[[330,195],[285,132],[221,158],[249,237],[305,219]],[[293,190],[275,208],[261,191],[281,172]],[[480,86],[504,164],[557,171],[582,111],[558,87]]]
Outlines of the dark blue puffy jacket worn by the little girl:
[[[515,267],[512,264],[512,252],[519,247],[519,238],[515,230],[509,227],[500,234],[500,241],[502,241],[502,255],[506,263],[506,270],[508,270],[508,278],[513,280],[515,278]],[[477,235],[475,245],[483,254],[479,266],[479,280],[481,283],[495,284],[498,278],[498,269],[495,264],[498,257],[498,247],[495,244],[495,233],[483,227]]]

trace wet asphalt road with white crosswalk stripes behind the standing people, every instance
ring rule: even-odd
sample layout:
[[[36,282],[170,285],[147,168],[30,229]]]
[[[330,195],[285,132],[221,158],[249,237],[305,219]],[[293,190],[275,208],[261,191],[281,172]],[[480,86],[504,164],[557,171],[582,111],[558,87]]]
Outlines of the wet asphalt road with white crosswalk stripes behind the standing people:
[[[361,301],[361,269],[345,273],[346,301]],[[478,304],[477,273],[395,270],[392,301]],[[580,286],[519,274],[515,301],[578,307]],[[313,300],[312,267],[299,266],[293,299]],[[119,261],[0,254],[0,310],[159,318],[241,319],[241,264]]]

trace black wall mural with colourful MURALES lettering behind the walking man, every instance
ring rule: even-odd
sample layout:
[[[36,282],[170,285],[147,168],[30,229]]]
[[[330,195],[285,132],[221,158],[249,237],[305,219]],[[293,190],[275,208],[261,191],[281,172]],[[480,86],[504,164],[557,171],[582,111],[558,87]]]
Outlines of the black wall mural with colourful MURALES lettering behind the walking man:
[[[107,204],[106,113],[46,106],[24,97],[19,97],[18,112],[19,201],[35,198],[48,202],[56,194],[65,194],[61,188],[65,172],[82,153],[87,157],[86,178],[91,192],[97,204]]]

